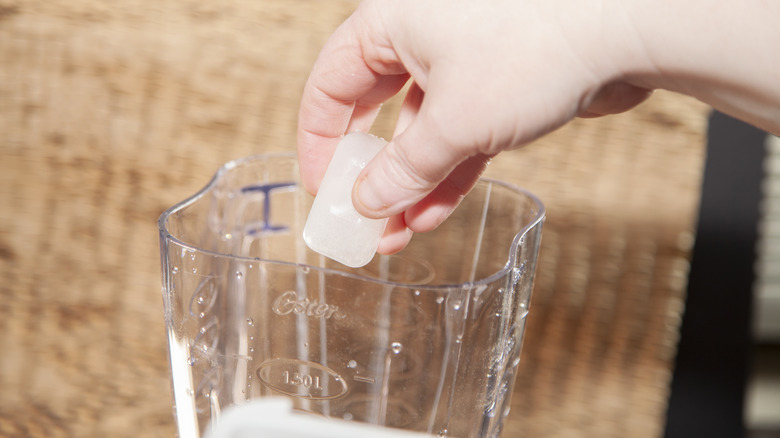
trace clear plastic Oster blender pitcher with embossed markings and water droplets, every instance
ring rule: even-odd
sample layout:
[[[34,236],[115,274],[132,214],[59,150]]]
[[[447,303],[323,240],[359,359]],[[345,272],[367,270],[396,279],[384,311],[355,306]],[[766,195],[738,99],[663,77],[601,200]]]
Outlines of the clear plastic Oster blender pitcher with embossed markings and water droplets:
[[[438,229],[347,268],[310,251],[293,155],[230,162],[159,220],[179,435],[230,406],[495,437],[520,360],[544,208],[482,180]],[[316,436],[316,431],[313,435]]]

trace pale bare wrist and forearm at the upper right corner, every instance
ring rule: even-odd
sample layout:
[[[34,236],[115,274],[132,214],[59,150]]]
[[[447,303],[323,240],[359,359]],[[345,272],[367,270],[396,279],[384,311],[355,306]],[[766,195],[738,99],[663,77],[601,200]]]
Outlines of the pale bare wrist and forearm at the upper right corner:
[[[774,55],[780,2],[617,3],[627,24],[619,32],[633,40],[623,80],[693,96],[763,129],[780,130],[780,63]]]

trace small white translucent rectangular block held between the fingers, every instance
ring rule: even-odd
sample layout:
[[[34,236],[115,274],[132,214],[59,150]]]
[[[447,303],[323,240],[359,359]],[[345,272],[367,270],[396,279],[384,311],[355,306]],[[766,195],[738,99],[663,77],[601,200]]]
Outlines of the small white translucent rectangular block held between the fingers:
[[[385,144],[361,132],[341,139],[303,229],[303,240],[313,251],[352,268],[374,258],[387,219],[369,219],[358,213],[352,205],[352,187]]]

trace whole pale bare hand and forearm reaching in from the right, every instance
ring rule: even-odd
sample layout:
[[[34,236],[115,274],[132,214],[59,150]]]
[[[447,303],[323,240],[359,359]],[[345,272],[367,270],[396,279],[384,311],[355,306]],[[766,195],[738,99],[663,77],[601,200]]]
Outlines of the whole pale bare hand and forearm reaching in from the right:
[[[653,89],[780,134],[780,1],[366,0],[304,88],[310,193],[340,137],[368,132],[409,81],[392,139],[352,193],[361,214],[390,217],[383,254],[441,224],[496,154]]]

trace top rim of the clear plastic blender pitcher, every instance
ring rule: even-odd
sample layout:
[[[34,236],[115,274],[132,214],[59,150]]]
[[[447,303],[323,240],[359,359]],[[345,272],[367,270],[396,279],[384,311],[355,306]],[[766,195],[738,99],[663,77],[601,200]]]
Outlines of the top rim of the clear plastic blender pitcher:
[[[340,275],[344,277],[350,277],[362,281],[370,281],[373,283],[379,283],[379,284],[388,284],[388,285],[395,285],[395,286],[409,286],[409,287],[415,287],[417,289],[430,289],[430,290],[446,290],[446,289],[452,289],[452,288],[463,288],[464,286],[476,286],[480,284],[489,284],[495,281],[496,279],[503,277],[506,275],[507,271],[511,268],[512,262],[514,261],[516,254],[517,254],[517,248],[521,245],[523,237],[534,227],[536,227],[539,223],[544,222],[545,220],[545,207],[544,204],[539,200],[539,198],[531,193],[530,191],[516,186],[514,184],[510,184],[504,181],[500,181],[493,178],[488,177],[481,177],[479,179],[480,182],[490,183],[493,185],[499,185],[503,186],[509,190],[512,190],[516,193],[521,193],[527,198],[529,198],[537,207],[537,212],[534,218],[527,223],[523,224],[523,226],[515,233],[512,244],[509,247],[509,257],[507,258],[507,262],[504,264],[501,269],[497,270],[496,272],[482,277],[479,280],[474,281],[468,281],[468,282],[462,282],[462,283],[452,283],[452,284],[439,284],[439,285],[423,285],[423,284],[415,284],[415,283],[404,283],[400,281],[389,281],[389,280],[382,280],[379,278],[369,277],[366,275],[361,275],[357,273],[352,272],[346,272],[341,271],[337,269],[332,268],[325,268],[325,267],[319,267],[314,265],[309,265],[306,263],[295,263],[295,262],[288,262],[283,260],[274,260],[274,259],[267,259],[267,258],[261,258],[261,257],[246,257],[246,256],[239,256],[235,254],[226,254],[222,252],[216,252],[211,250],[206,250],[203,248],[199,248],[195,245],[189,244],[184,242],[183,240],[179,239],[178,237],[174,236],[168,231],[167,228],[167,220],[168,218],[173,215],[176,212],[179,212],[183,210],[184,208],[190,206],[191,204],[198,201],[201,197],[205,196],[206,193],[208,193],[216,184],[217,181],[229,171],[235,169],[236,167],[242,165],[251,163],[254,161],[258,161],[260,159],[269,159],[269,158],[295,158],[296,155],[291,152],[269,152],[269,153],[262,153],[262,154],[254,154],[249,155],[243,158],[234,159],[231,161],[226,162],[222,166],[217,169],[217,171],[214,173],[214,175],[211,177],[208,183],[204,185],[200,190],[196,191],[194,194],[188,196],[187,198],[175,203],[171,207],[167,208],[157,219],[157,228],[160,233],[160,236],[164,241],[171,241],[176,243],[177,245],[191,249],[194,251],[198,251],[203,254],[208,254],[211,256],[217,256],[217,257],[228,257],[236,260],[245,260],[245,261],[252,261],[252,262],[264,262],[264,263],[273,263],[273,264],[279,264],[284,266],[295,266],[299,268],[309,268],[313,270],[317,270],[320,272],[325,272],[332,275]],[[300,182],[296,181],[296,185],[299,185]]]

